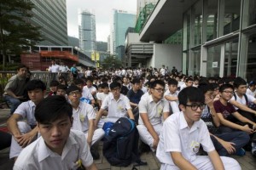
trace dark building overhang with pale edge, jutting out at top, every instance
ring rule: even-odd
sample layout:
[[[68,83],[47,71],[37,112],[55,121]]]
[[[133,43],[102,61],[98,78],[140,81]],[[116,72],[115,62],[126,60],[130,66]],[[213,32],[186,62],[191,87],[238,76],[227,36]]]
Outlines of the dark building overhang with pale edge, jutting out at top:
[[[198,0],[160,0],[140,32],[142,42],[161,42],[183,28],[183,13]]]

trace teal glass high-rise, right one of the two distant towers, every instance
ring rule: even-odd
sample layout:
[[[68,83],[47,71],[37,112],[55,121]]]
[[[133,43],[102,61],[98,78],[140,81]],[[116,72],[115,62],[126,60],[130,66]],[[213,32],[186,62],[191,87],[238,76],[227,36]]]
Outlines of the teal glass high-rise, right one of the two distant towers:
[[[125,46],[125,32],[129,27],[134,27],[136,14],[129,14],[124,10],[113,9],[113,20],[110,34],[110,52],[116,54],[116,48]],[[119,54],[119,59],[121,59]]]

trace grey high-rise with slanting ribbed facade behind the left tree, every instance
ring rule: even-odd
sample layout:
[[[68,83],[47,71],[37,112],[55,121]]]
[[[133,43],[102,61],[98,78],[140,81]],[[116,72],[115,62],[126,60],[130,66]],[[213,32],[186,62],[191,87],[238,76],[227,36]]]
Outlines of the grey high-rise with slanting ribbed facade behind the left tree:
[[[67,42],[67,6],[66,0],[38,1],[31,0],[32,24],[41,26],[44,41],[38,45],[62,45]]]

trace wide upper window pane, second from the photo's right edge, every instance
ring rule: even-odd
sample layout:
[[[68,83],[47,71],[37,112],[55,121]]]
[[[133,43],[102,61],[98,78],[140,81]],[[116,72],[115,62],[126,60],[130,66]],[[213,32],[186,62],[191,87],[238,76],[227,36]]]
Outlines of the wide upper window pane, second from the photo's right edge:
[[[224,0],[224,35],[239,29],[240,10],[241,0]]]

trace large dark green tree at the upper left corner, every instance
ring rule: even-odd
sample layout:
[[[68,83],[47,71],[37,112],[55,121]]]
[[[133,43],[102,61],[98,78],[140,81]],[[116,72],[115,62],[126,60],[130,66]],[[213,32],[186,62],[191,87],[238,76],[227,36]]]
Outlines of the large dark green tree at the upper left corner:
[[[7,54],[20,54],[23,47],[32,47],[42,41],[40,27],[31,21],[34,4],[29,0],[1,0],[0,51],[3,70]]]

